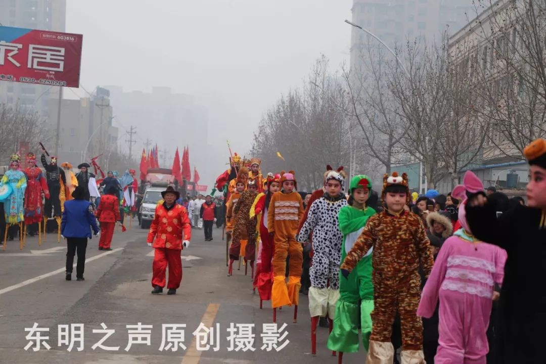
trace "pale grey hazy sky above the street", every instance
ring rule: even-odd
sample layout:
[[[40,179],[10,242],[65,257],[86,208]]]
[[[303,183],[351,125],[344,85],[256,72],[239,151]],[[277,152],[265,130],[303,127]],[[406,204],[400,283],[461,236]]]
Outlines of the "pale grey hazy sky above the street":
[[[351,6],[352,0],[68,0],[66,31],[84,34],[80,81],[88,91],[169,86],[193,94],[210,110],[209,142],[229,139],[245,152],[263,112],[301,85],[314,59],[323,53],[334,67],[348,62],[351,27],[343,20],[351,19]]]

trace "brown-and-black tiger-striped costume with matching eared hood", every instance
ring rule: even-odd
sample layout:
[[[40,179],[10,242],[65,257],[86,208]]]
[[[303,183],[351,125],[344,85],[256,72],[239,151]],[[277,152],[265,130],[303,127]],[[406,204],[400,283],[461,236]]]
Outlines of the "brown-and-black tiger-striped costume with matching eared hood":
[[[383,196],[388,192],[405,192],[409,200],[406,174],[385,175]],[[387,208],[375,214],[343,261],[343,276],[348,277],[371,248],[375,307],[371,314],[373,327],[366,362],[393,362],[390,338],[398,312],[402,326],[402,363],[423,364],[423,323],[417,316],[421,295],[419,265],[425,277],[429,277],[434,264],[424,225],[419,216],[405,210],[391,213]]]

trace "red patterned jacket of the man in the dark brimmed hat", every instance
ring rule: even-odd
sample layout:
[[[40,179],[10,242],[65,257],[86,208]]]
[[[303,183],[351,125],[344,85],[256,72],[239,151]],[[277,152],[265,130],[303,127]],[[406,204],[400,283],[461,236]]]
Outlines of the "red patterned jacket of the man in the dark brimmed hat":
[[[192,236],[192,225],[188,212],[182,205],[174,204],[169,210],[165,203],[156,207],[147,242],[153,241],[154,248],[182,250],[182,242]]]

